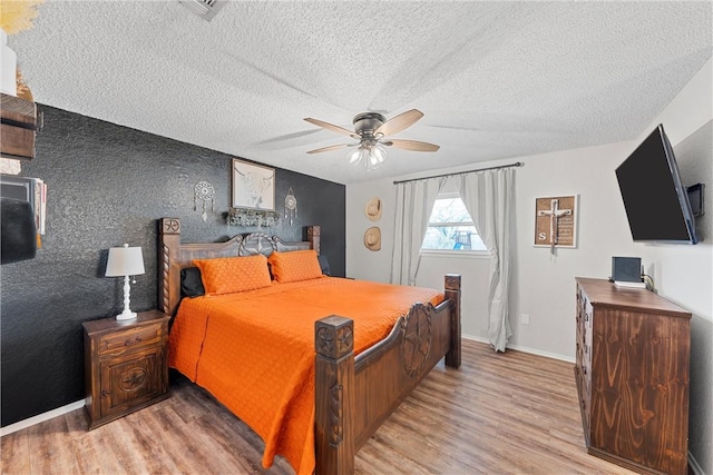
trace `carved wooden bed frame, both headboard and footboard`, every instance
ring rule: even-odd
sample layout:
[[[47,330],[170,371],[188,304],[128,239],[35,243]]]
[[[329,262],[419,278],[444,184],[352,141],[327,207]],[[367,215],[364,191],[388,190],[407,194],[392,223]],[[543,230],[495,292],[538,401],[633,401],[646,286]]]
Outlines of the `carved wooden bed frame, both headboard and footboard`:
[[[296,249],[320,251],[320,227],[307,241],[285,243],[265,234],[225,243],[180,244],[180,220],[159,220],[158,299],[174,316],[180,301],[180,269],[192,259]],[[416,304],[387,338],[354,357],[353,321],[328,316],[315,323],[315,474],[352,474],[354,455],[441,359],[460,367],[460,276],[448,274],[446,300]]]

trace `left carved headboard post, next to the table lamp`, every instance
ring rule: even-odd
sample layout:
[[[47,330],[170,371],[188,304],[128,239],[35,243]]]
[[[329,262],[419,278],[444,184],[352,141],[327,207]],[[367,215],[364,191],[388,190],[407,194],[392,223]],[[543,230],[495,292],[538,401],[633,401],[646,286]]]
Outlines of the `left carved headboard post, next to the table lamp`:
[[[158,230],[158,305],[164,314],[173,316],[180,300],[180,269],[169,273],[168,263],[178,265],[180,248],[180,219],[162,218]]]

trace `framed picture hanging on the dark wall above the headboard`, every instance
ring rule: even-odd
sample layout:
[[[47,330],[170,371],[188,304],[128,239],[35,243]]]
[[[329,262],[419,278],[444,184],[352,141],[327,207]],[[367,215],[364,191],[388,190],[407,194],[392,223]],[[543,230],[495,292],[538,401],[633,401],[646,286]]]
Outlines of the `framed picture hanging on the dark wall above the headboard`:
[[[275,169],[233,159],[233,208],[275,210]]]

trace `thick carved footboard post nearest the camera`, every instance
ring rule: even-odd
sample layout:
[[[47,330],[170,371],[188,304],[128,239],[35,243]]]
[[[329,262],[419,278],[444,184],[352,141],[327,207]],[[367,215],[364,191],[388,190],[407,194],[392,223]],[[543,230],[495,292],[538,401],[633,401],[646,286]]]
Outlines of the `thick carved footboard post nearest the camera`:
[[[322,318],[314,324],[315,475],[354,473],[354,323]]]

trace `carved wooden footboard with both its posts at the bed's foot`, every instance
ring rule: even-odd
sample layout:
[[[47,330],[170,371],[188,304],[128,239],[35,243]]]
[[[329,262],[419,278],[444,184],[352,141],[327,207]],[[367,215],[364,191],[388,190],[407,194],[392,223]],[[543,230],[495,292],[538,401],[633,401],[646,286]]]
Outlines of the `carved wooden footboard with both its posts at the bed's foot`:
[[[356,358],[348,318],[316,321],[314,342],[315,473],[351,474],[356,452],[441,358],[460,367],[460,276],[446,276],[442,304],[413,305]]]

